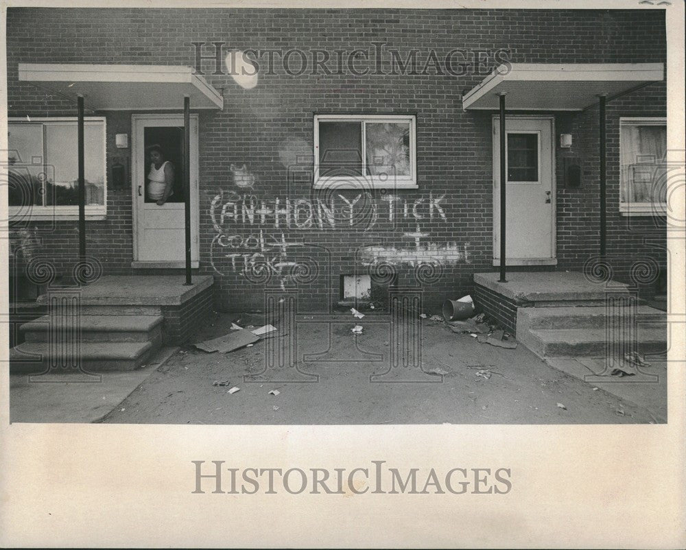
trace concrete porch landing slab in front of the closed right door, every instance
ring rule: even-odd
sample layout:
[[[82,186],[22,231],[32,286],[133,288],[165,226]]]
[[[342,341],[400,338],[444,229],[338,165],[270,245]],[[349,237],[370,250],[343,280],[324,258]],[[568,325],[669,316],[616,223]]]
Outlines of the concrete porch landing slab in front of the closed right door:
[[[626,291],[628,285],[611,280],[608,283],[593,283],[578,272],[512,272],[507,274],[507,283],[499,283],[497,273],[476,273],[474,283],[486,287],[517,306],[559,306],[604,303],[607,291]]]

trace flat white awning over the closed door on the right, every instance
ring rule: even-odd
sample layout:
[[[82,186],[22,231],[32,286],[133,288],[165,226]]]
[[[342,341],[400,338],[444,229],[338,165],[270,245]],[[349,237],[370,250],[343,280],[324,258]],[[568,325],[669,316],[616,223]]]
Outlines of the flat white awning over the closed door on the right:
[[[664,80],[662,63],[514,63],[499,65],[462,97],[464,110],[499,108],[505,93],[507,110],[578,111],[650,82]]]

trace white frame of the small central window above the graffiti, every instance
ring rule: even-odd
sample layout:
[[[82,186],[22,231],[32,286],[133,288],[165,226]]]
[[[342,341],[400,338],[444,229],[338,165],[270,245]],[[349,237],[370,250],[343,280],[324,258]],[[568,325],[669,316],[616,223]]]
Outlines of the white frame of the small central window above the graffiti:
[[[410,123],[410,176],[399,176],[394,182],[388,180],[383,181],[378,176],[364,175],[365,185],[368,189],[418,189],[417,184],[417,132],[416,132],[416,115],[365,115],[365,114],[336,114],[329,113],[323,115],[314,115],[314,130],[313,130],[313,150],[314,150],[314,189],[327,189],[335,187],[335,189],[359,189],[359,186],[350,184],[349,178],[335,178],[319,176],[319,123],[320,122],[359,122],[362,125],[362,170],[366,172],[366,122],[409,122]]]

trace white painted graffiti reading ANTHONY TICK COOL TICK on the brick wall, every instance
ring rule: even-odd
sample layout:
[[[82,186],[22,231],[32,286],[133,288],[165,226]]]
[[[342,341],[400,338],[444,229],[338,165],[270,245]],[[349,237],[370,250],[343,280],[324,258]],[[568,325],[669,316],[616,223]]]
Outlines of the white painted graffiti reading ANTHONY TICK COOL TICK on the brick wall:
[[[213,226],[210,261],[220,275],[235,273],[254,283],[270,278],[281,287],[294,280],[303,267],[303,242],[287,239],[285,230],[335,230],[359,228],[369,232],[382,222],[414,222],[416,230],[404,232],[403,239],[413,239],[414,246],[363,246],[359,261],[365,267],[410,265],[442,266],[471,263],[469,243],[436,243],[422,224],[447,222],[445,195],[416,199],[370,193],[346,197],[334,193],[326,198],[258,198],[256,195],[229,191],[215,195],[210,204]],[[250,230],[248,235],[245,234]],[[276,230],[274,232],[273,230]]]

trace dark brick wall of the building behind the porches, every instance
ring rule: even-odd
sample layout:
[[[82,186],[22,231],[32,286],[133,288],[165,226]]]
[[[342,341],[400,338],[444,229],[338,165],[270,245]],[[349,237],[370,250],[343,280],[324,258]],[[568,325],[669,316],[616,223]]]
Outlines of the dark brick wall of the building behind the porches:
[[[373,273],[382,278],[386,270],[397,272],[397,283],[425,287],[425,304],[438,307],[447,297],[471,291],[474,272],[491,271],[492,258],[492,138],[490,112],[464,112],[463,91],[481,82],[483,74],[438,75],[429,67],[422,74],[427,49],[444,58],[453,48],[510,51],[512,62],[664,62],[664,15],[658,10],[140,10],[54,8],[8,9],[8,92],[10,116],[73,115],[74,107],[61,97],[47,95],[30,84],[17,82],[19,62],[73,62],[121,64],[183,64],[194,66],[193,42],[212,42],[230,49],[371,49],[372,42],[398,49],[403,58],[418,50],[418,74],[300,76],[285,73],[276,64],[274,74],[261,75],[256,88],[241,88],[227,75],[213,75],[212,60],[202,68],[206,80],[224,92],[224,109],[200,113],[200,273],[215,276],[217,306],[223,309],[261,309],[265,286],[297,284],[308,296],[307,307],[327,309],[337,301],[341,274],[367,271],[358,258],[363,246],[389,248],[414,246],[403,235],[418,226],[428,233],[425,243],[455,243],[465,256],[444,263],[434,272],[417,273],[411,265],[380,265]],[[482,72],[493,64],[488,58]],[[298,64],[294,62],[295,67]],[[364,69],[364,60],[355,67]],[[471,71],[473,72],[473,71]],[[316,113],[365,112],[414,114],[417,121],[419,189],[396,191],[400,200],[413,204],[429,195],[445,195],[441,207],[446,218],[396,217],[393,224],[377,224],[364,231],[338,224],[335,229],[276,228],[273,222],[237,223],[222,226],[225,237],[244,243],[240,252],[255,252],[260,239],[272,240],[265,263],[247,273],[217,248],[217,231],[209,215],[217,204],[241,193],[230,170],[246,165],[255,176],[250,191],[259,201],[275,198],[313,198],[311,182],[289,181],[287,165],[296,154],[311,154],[313,117]],[[115,133],[130,134],[130,112],[107,116],[108,161],[121,154],[113,145]],[[665,115],[665,85],[654,84],[608,106],[608,251],[617,263],[617,277],[626,278],[636,258],[650,256],[665,265],[664,230],[649,219],[623,218],[617,212],[619,116]],[[571,151],[557,153],[558,178],[561,158],[578,155],[584,165],[579,189],[558,183],[559,268],[580,269],[595,253],[598,243],[597,110],[580,115],[556,114],[556,134],[567,128],[574,137]],[[341,192],[348,200],[355,193]],[[338,195],[338,193],[336,193]],[[373,200],[386,205],[383,193]],[[338,200],[338,198],[336,198]],[[282,203],[283,204],[283,203]],[[401,204],[401,203],[399,203]],[[426,202],[423,203],[427,204]],[[388,210],[385,211],[388,213]],[[410,222],[412,220],[412,222]],[[54,257],[60,270],[68,270],[77,249],[75,222],[60,222],[54,230],[41,232],[43,252]],[[282,239],[283,235],[283,241]],[[252,238],[251,238],[252,236]],[[650,243],[644,243],[650,237]],[[130,189],[108,189],[108,217],[88,223],[88,251],[97,256],[106,273],[130,272],[132,260]],[[226,241],[225,241],[226,242]],[[290,280],[271,273],[276,246],[289,248],[288,259],[300,262]],[[214,248],[213,248],[214,246]],[[250,248],[253,247],[253,248]],[[216,249],[216,250],[215,250]]]

